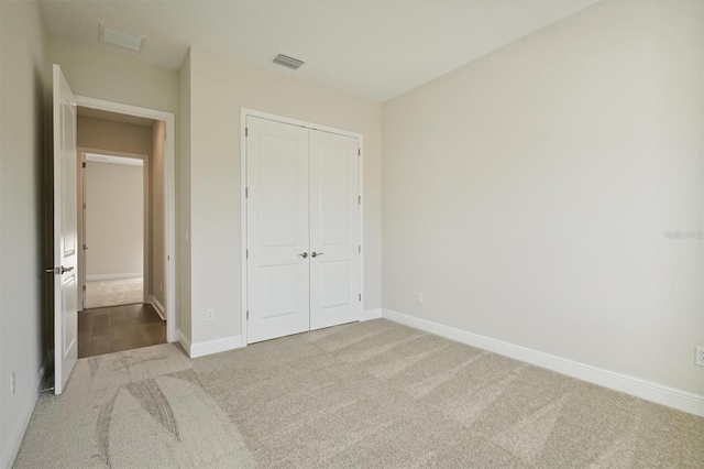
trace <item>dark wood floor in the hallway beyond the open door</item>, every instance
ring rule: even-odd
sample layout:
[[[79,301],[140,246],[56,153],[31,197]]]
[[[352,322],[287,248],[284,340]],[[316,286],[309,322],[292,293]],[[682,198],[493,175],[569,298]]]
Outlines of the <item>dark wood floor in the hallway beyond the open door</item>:
[[[78,313],[78,358],[166,342],[166,321],[152,305],[135,304]]]

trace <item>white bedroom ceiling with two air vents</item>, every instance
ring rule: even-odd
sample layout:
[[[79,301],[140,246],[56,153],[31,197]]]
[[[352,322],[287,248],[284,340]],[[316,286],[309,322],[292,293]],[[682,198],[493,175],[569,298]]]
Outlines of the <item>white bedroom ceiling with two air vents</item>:
[[[50,36],[179,68],[189,45],[384,101],[598,0],[42,0]],[[98,42],[99,23],[148,37]],[[306,62],[292,72],[283,53]]]

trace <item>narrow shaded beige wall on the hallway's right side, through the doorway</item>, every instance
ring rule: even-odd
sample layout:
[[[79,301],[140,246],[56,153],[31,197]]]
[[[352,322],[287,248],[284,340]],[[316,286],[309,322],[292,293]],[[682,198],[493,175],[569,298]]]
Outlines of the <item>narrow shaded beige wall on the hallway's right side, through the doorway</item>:
[[[148,293],[166,304],[166,123],[156,121],[152,128],[150,157],[150,284]],[[174,285],[172,285],[172,288]]]

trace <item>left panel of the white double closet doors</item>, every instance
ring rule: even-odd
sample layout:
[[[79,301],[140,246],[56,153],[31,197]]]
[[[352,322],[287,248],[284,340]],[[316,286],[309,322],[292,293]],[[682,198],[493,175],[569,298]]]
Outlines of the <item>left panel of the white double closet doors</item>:
[[[308,130],[253,117],[246,127],[248,332],[257,342],[310,327]]]

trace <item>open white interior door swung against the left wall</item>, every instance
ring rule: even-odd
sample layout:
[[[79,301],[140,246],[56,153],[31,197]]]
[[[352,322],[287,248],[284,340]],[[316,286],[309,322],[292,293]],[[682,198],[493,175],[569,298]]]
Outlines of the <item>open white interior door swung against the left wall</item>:
[[[54,392],[78,358],[76,98],[54,65]]]

